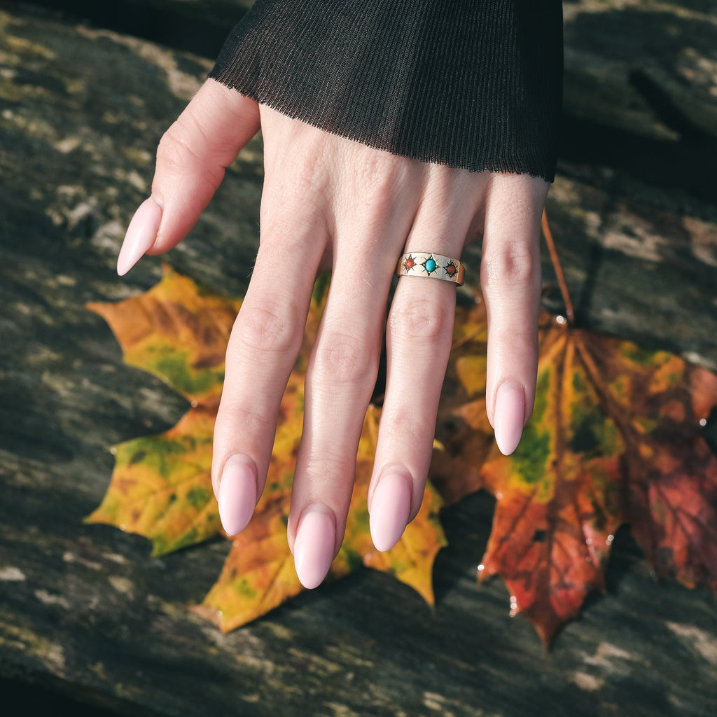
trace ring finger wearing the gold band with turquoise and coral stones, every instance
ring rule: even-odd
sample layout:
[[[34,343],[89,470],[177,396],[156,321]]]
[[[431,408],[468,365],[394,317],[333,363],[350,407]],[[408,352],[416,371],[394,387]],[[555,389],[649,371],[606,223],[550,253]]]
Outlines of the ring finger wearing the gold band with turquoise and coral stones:
[[[485,177],[432,168],[434,178],[404,252],[459,258],[478,211]],[[374,472],[371,536],[390,550],[418,513],[432,456],[435,421],[450,353],[455,284],[399,277],[386,326],[388,374]],[[430,268],[430,267],[429,267]]]

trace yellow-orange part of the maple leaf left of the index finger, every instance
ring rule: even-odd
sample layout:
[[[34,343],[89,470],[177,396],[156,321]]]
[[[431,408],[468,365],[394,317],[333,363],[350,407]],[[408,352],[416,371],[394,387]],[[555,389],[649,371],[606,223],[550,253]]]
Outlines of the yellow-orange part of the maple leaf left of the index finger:
[[[126,364],[158,376],[192,407],[169,431],[113,447],[110,487],[87,522],[150,538],[153,555],[221,532],[212,493],[212,433],[224,353],[240,305],[202,291],[168,267],[161,282],[140,296],[88,305],[110,324]]]

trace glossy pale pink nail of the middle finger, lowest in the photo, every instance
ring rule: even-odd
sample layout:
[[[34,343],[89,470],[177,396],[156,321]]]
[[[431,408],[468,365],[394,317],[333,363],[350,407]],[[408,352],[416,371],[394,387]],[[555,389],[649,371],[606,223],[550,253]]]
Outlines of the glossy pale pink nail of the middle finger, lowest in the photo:
[[[305,508],[294,541],[294,565],[300,583],[318,587],[328,574],[336,543],[336,518],[320,503]]]

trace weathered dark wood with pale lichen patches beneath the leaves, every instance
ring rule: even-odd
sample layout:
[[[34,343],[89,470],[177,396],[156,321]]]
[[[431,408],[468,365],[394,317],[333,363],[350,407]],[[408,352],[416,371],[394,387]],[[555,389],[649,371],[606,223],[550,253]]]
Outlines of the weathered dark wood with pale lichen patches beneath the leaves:
[[[710,4],[643,5],[671,18],[646,26],[643,51],[675,27],[680,57],[695,47],[714,60]],[[584,74],[574,77],[594,77],[590,90],[605,92],[606,104],[626,96],[613,92],[631,86],[630,73],[617,82],[613,58],[589,47],[587,29],[571,28],[601,14],[605,27],[620,28],[616,12],[566,4],[566,37],[579,43],[569,44],[569,68],[580,59]],[[694,30],[695,18],[699,37],[687,42],[682,23]],[[632,37],[640,23],[627,27]],[[632,62],[639,70],[637,50]],[[0,675],[133,716],[712,715],[717,599],[656,584],[628,531],[614,543],[607,594],[545,655],[531,625],[508,617],[499,581],[475,587],[492,513],[482,494],[443,516],[450,546],[437,560],[434,610],[365,570],[229,635],[185,609],[219,574],[224,541],[150,559],[143,539],[82,523],[108,485],[106,447],[184,412],[165,386],[121,364],[110,331],[84,306],[159,279],[159,258],[122,280],[115,259],[149,191],[156,143],[209,65],[125,35],[0,11]],[[668,93],[677,82],[645,72]],[[688,142],[647,101],[631,100],[619,121],[607,107],[594,114],[575,84],[567,85],[573,129],[587,119],[599,138],[623,138],[638,154],[673,156]],[[699,95],[703,116],[717,101],[708,95]],[[714,200],[670,167],[655,179],[637,155],[585,162],[593,139],[561,163],[549,204],[581,323],[717,366]],[[257,140],[168,257],[177,270],[244,291],[261,167]],[[478,249],[467,253],[476,276]],[[551,288],[546,264],[546,303],[559,309]]]

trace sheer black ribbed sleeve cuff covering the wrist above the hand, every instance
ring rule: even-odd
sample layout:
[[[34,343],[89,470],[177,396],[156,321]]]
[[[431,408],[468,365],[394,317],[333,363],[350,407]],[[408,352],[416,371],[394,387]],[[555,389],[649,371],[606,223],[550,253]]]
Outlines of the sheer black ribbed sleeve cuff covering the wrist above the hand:
[[[328,132],[552,181],[559,0],[257,0],[210,77]]]

